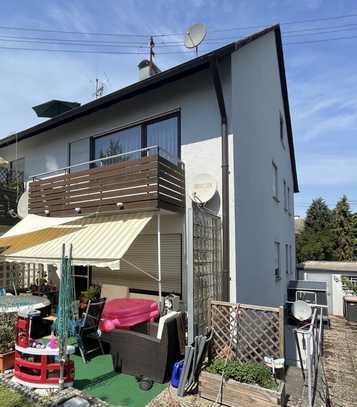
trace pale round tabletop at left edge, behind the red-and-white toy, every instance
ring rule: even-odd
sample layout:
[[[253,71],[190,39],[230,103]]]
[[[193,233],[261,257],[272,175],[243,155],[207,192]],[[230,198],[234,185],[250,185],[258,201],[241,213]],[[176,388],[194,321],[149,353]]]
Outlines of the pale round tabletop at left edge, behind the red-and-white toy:
[[[0,296],[0,313],[41,310],[50,304],[48,298],[37,295],[3,295]]]

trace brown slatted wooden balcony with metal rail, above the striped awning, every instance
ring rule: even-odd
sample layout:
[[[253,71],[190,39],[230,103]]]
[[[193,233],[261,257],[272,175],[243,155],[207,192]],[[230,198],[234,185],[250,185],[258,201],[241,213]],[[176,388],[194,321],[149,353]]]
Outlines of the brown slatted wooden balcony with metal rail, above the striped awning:
[[[36,215],[131,209],[183,211],[183,163],[159,147],[150,147],[39,174],[29,187],[29,213]]]

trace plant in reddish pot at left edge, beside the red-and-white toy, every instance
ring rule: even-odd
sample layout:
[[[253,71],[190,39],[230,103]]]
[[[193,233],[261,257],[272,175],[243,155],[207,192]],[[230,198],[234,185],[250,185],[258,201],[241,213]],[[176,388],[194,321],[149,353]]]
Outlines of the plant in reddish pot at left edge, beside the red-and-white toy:
[[[16,323],[16,312],[0,314],[0,373],[15,364]]]

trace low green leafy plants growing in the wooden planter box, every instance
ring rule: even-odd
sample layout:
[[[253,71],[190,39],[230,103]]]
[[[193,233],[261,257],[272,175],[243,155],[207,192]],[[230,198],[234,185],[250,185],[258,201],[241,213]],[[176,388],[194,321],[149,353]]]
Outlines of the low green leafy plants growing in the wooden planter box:
[[[224,368],[225,360],[216,359],[206,370],[209,373],[216,373],[227,379],[233,379],[241,383],[258,384],[266,389],[277,387],[269,368],[255,362],[239,362],[231,359]]]

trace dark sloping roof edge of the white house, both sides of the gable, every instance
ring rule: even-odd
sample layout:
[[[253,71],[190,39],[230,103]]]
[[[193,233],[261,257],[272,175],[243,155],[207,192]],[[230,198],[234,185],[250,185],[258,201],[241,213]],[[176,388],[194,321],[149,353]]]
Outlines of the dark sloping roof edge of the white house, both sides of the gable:
[[[37,124],[26,130],[23,130],[16,134],[12,134],[8,137],[5,137],[2,140],[0,140],[0,148],[8,146],[12,143],[15,143],[16,139],[17,139],[17,141],[21,141],[21,140],[27,139],[29,137],[33,137],[37,134],[43,133],[44,131],[54,129],[65,123],[76,120],[82,116],[86,116],[91,113],[97,112],[98,110],[105,109],[106,107],[111,106],[115,103],[119,103],[125,99],[132,98],[136,95],[139,95],[139,94],[142,94],[149,90],[158,88],[169,82],[176,81],[185,76],[191,75],[195,72],[199,72],[204,69],[207,69],[210,65],[210,61],[212,60],[212,58],[221,58],[221,57],[230,55],[232,52],[238,50],[239,48],[243,47],[244,45],[262,37],[263,35],[271,32],[271,31],[275,32],[276,48],[277,48],[277,54],[278,54],[279,71],[280,71],[280,79],[281,79],[280,80],[281,91],[282,91],[282,97],[283,97],[283,101],[284,101],[284,110],[285,110],[286,126],[287,126],[288,140],[289,140],[291,165],[292,165],[293,178],[294,178],[294,190],[295,190],[295,192],[298,192],[299,187],[298,187],[298,180],[297,180],[297,174],[296,174],[296,164],[295,164],[295,154],[294,154],[293,136],[292,136],[292,128],[291,128],[289,101],[288,101],[288,91],[287,91],[285,68],[284,68],[283,47],[282,47],[282,42],[281,42],[281,32],[280,32],[279,25],[273,25],[271,27],[268,27],[255,34],[242,38],[239,41],[232,42],[222,48],[218,48],[207,54],[194,58],[188,62],[185,62],[180,65],[176,65],[173,68],[160,72],[148,79],[145,79],[140,82],[136,82],[125,88],[119,89],[116,92],[110,93],[99,99],[86,103],[80,107],[71,109],[70,111],[60,114],[60,115],[54,117],[53,119],[46,120],[45,122]]]

